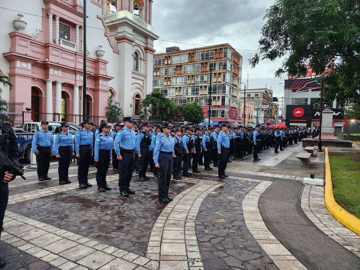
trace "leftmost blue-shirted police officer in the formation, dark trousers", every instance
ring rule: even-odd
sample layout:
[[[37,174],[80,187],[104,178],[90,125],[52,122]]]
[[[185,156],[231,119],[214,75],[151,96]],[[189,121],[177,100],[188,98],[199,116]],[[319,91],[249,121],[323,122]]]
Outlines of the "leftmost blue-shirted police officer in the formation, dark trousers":
[[[50,156],[54,154],[54,139],[48,125],[48,121],[41,121],[41,129],[35,132],[31,143],[32,152],[36,155],[39,181],[51,180],[48,171]]]

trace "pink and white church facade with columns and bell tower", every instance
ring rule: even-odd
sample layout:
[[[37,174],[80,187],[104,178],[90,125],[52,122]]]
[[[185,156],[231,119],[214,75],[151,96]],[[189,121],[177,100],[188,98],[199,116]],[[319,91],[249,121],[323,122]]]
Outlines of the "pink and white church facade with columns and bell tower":
[[[153,44],[135,42],[131,35],[122,35],[121,31],[117,36],[109,35],[109,28],[114,26],[106,19],[116,13],[120,17],[120,12],[125,12],[125,17],[142,17],[140,26],[133,26],[134,31],[141,26],[149,28],[152,0],[87,0],[87,48],[82,42],[83,7],[80,0],[37,0],[34,4],[37,6],[29,8],[36,9],[41,15],[36,18],[20,15],[18,20],[15,19],[19,22],[14,21],[18,29],[8,32],[9,48],[1,46],[8,69],[6,63],[0,61],[0,70],[14,85],[8,91],[7,99],[25,103],[24,107],[30,107],[32,112],[82,114],[82,99],[86,98],[87,114],[105,116],[111,97],[120,102],[125,115],[135,116],[135,103],[140,103],[148,93],[145,82],[152,84]],[[139,14],[133,13],[135,4],[140,6]],[[32,20],[37,20],[39,25],[33,34],[22,29],[28,27],[29,19],[31,24],[36,24]],[[150,34],[156,39],[156,35]],[[147,38],[144,35],[144,39]],[[138,51],[136,55],[134,50]],[[84,53],[87,54],[85,97],[82,96]],[[151,72],[148,73],[148,69]],[[133,87],[136,84],[139,84],[138,89]],[[132,96],[126,94],[129,91]]]

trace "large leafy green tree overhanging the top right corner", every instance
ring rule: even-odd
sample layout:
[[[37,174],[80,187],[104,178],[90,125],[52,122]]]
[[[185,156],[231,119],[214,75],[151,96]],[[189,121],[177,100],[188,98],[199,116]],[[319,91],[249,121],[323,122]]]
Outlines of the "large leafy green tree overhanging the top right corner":
[[[259,61],[284,58],[275,72],[305,76],[307,65],[324,76],[324,98],[339,105],[360,103],[360,5],[357,0],[276,0],[266,10]]]

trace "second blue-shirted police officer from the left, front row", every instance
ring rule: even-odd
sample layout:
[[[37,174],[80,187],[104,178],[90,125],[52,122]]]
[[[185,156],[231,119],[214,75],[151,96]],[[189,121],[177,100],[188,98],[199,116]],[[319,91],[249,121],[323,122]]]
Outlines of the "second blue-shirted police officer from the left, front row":
[[[54,150],[55,156],[58,158],[59,167],[59,185],[70,184],[69,181],[69,166],[71,158],[75,155],[74,153],[74,141],[72,139],[72,134],[68,132],[69,125],[67,122],[62,122],[60,124],[59,132],[54,141]]]

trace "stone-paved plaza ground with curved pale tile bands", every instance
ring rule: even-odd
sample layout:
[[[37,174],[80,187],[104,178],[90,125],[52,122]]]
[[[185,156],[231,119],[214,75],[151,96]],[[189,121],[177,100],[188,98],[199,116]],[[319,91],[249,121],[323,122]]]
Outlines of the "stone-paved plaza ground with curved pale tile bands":
[[[154,177],[142,182],[134,173],[136,194],[123,198],[112,170],[107,180],[113,190],[98,193],[94,168],[89,174],[93,187],[85,190],[78,188],[76,166],[69,171],[72,183],[62,186],[56,163],[50,166],[52,180],[41,183],[36,171],[26,168],[27,180],[10,184],[0,242],[5,269],[306,269],[267,228],[258,208],[273,183],[300,184],[310,173],[323,174],[323,156],[305,167],[295,158],[301,151],[299,145],[279,154],[270,148],[259,154],[260,162],[252,156],[233,161],[224,181],[216,168],[199,167],[201,174],[171,181],[174,201],[167,205],[158,202]],[[309,197],[310,190],[305,191]],[[357,240],[348,240],[356,247]]]

